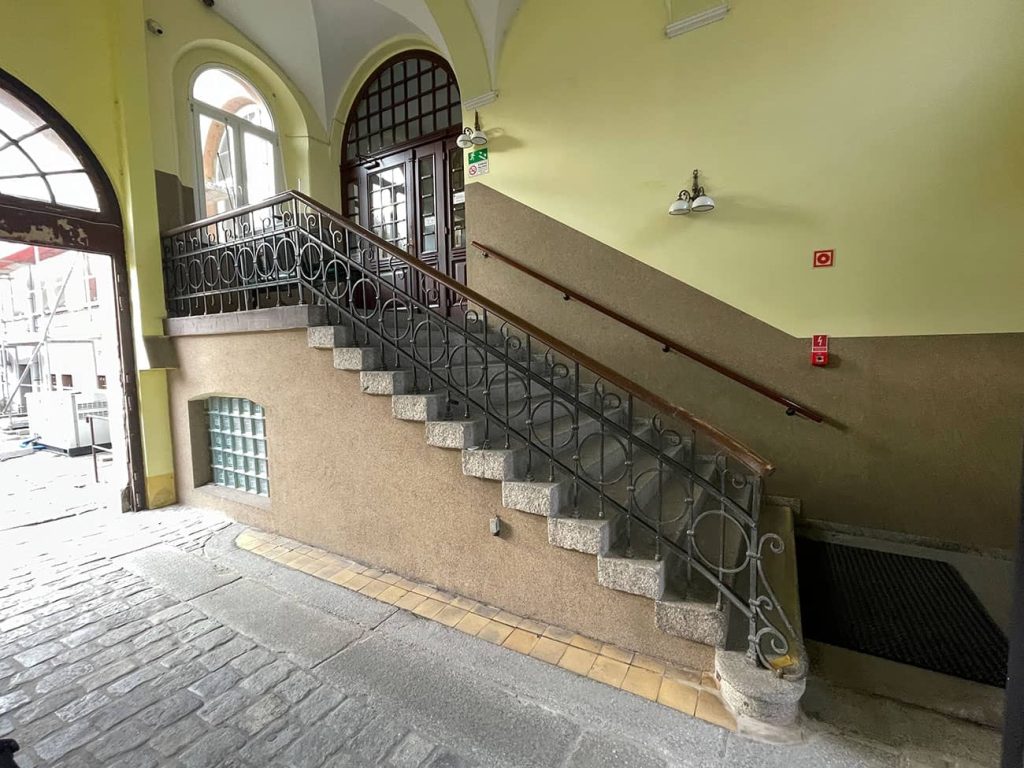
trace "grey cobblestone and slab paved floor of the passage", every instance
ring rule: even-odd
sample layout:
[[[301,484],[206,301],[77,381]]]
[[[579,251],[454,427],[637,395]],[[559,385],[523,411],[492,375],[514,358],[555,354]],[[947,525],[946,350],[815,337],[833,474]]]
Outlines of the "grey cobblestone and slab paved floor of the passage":
[[[22,768],[933,765],[830,729],[755,743],[240,550],[241,530],[178,508],[4,534],[0,736]]]

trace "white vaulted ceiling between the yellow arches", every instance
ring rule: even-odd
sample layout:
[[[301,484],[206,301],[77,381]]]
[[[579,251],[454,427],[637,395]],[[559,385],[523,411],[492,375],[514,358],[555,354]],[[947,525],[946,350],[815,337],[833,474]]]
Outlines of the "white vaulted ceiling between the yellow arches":
[[[521,0],[468,2],[494,82],[505,33]],[[278,62],[328,129],[355,68],[384,41],[422,35],[449,55],[424,0],[217,0],[215,9]]]

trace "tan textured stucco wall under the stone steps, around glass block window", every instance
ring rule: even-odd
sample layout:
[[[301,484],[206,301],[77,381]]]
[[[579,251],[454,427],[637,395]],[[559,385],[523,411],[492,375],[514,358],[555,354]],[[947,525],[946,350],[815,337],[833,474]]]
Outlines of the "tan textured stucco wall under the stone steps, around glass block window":
[[[712,651],[654,628],[650,600],[597,585],[594,557],[552,547],[543,518],[506,511],[501,487],[462,474],[388,397],[359,391],[304,331],[177,338],[170,376],[179,498],[239,520],[515,613],[710,669]],[[266,408],[270,510],[193,487],[188,401],[210,394]],[[500,514],[500,538],[488,519]]]

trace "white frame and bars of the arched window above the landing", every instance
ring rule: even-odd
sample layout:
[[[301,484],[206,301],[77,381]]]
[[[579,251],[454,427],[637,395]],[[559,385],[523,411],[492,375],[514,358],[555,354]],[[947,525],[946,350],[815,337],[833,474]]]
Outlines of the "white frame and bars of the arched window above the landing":
[[[263,108],[269,113],[270,119],[273,122],[273,128],[263,128],[262,126],[256,125],[245,118],[239,117],[238,115],[230,113],[226,110],[214,106],[206,101],[201,101],[196,98],[196,81],[199,80],[200,76],[204,72],[210,70],[221,70],[223,72],[229,73],[233,77],[239,78],[243,82],[247,83],[250,88],[255,91],[259,98],[263,101]],[[188,81],[188,110],[191,114],[191,124],[193,124],[193,142],[194,142],[194,161],[196,169],[196,217],[198,219],[204,219],[207,217],[206,209],[206,184],[204,179],[206,178],[206,169],[204,167],[204,157],[205,157],[205,146],[203,144],[203,134],[200,128],[202,118],[206,117],[211,120],[216,120],[224,125],[228,126],[238,137],[237,147],[233,152],[234,159],[234,179],[237,181],[236,188],[238,190],[237,203],[238,207],[243,207],[249,205],[250,203],[256,203],[259,201],[251,201],[248,199],[248,184],[246,176],[246,154],[245,154],[245,134],[251,133],[254,136],[259,136],[260,138],[269,141],[273,146],[273,172],[274,172],[274,193],[283,191],[285,188],[285,172],[284,163],[282,159],[281,152],[281,141],[278,135],[278,116],[273,114],[273,110],[270,109],[270,102],[263,95],[262,91],[245,75],[241,74],[237,70],[218,62],[211,62],[204,65],[193,73],[191,78]]]

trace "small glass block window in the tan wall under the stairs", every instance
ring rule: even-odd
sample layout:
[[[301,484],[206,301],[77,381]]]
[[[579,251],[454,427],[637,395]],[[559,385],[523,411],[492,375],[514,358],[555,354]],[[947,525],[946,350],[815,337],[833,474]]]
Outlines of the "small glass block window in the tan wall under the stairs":
[[[263,407],[243,397],[206,401],[213,484],[270,496]]]

